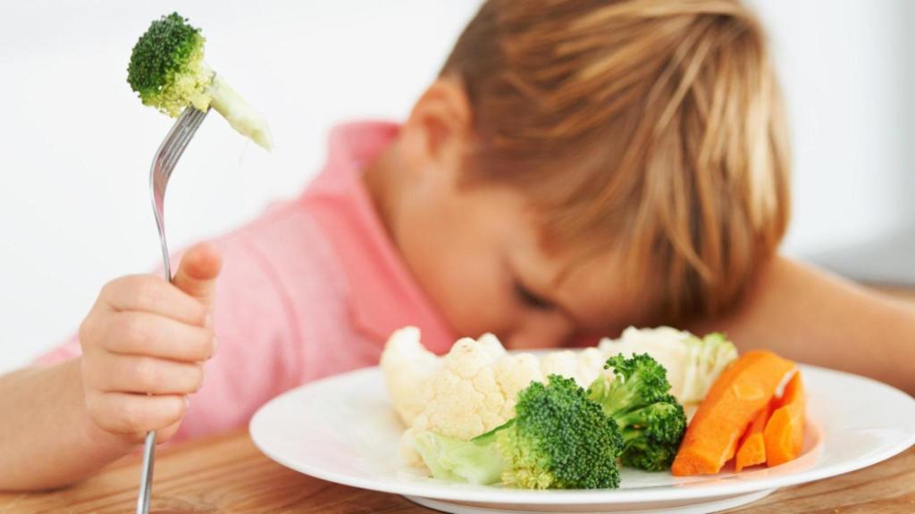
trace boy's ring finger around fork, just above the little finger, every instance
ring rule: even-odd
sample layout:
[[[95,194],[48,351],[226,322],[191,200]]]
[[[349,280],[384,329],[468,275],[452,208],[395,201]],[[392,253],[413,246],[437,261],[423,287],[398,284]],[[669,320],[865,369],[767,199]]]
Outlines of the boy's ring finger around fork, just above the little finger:
[[[99,351],[83,360],[83,377],[102,392],[189,394],[203,385],[203,365]]]

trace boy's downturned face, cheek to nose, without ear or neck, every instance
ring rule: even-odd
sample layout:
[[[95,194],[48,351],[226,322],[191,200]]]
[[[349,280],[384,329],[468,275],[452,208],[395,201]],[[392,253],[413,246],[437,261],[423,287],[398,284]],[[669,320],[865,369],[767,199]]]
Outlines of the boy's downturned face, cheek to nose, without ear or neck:
[[[613,255],[546,254],[524,198],[507,187],[433,180],[403,214],[400,251],[460,336],[493,332],[508,348],[559,347],[612,335],[638,314],[615,286]]]

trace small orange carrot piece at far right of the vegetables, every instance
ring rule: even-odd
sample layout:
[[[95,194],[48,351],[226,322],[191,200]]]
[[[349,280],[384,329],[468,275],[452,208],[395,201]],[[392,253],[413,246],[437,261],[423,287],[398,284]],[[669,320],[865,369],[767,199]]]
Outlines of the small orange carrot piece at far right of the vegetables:
[[[772,412],[762,437],[766,444],[766,466],[778,466],[801,455],[804,411],[807,399],[801,373],[795,373],[785,386],[779,407]]]

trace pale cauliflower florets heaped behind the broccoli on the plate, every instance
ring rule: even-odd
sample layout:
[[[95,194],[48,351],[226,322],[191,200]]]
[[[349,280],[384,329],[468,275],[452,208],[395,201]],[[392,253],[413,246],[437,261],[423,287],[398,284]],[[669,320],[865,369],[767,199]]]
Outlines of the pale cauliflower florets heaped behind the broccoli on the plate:
[[[604,339],[597,348],[558,350],[540,357],[509,353],[499,339],[485,334],[458,340],[444,357],[423,347],[419,329],[397,330],[382,353],[382,371],[394,409],[408,427],[401,448],[404,458],[419,462],[412,434],[432,431],[467,441],[514,416],[518,391],[550,374],[576,380],[587,388],[617,354],[647,353],[667,370],[671,393],[688,414],[737,358],[737,349],[720,334],[702,339],[670,327],[627,328],[619,339]]]

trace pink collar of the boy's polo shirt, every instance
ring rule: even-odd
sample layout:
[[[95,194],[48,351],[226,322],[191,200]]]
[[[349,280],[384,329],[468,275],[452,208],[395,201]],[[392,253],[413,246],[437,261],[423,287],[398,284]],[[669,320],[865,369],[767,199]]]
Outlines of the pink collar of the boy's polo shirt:
[[[349,282],[350,310],[367,336],[386,340],[401,327],[423,333],[426,348],[444,353],[455,340],[441,313],[407,269],[361,180],[361,172],[391,145],[393,123],[349,123],[330,133],[328,161],[307,187],[307,202],[337,250]]]

